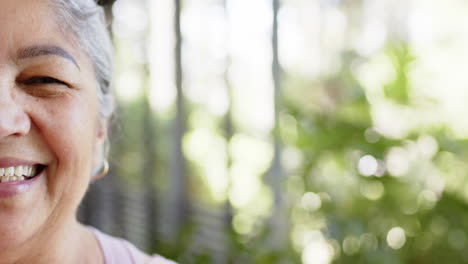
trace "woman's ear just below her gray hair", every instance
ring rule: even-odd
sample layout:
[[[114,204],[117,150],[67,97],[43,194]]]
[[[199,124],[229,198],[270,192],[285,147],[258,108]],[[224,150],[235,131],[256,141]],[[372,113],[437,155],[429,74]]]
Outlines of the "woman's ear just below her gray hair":
[[[99,173],[102,170],[102,166],[104,164],[105,159],[105,148],[106,148],[106,140],[107,140],[107,121],[99,119],[96,129],[96,136],[94,141],[94,149],[93,149],[93,160],[92,160],[92,172],[91,177],[92,180],[97,180],[102,178],[104,175],[100,175]]]

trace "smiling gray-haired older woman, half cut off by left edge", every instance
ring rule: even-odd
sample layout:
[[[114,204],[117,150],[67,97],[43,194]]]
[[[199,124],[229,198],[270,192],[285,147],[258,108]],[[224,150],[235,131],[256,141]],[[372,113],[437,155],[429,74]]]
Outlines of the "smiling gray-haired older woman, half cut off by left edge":
[[[0,0],[0,264],[172,263],[76,220],[105,172],[111,54],[93,0]]]

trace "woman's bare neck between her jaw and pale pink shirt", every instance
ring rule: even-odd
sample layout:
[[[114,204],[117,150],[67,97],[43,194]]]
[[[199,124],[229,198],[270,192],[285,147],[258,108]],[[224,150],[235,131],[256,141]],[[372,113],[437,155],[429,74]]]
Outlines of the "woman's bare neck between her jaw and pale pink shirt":
[[[41,230],[14,250],[0,253],[0,264],[6,263],[103,263],[103,257],[94,234],[73,219]]]

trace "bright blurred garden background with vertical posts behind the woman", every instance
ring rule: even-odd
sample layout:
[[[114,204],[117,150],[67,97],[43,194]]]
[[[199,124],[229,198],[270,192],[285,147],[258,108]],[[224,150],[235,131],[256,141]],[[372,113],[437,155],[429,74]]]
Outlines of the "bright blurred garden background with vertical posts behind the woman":
[[[81,217],[180,263],[468,263],[468,2],[117,0]]]

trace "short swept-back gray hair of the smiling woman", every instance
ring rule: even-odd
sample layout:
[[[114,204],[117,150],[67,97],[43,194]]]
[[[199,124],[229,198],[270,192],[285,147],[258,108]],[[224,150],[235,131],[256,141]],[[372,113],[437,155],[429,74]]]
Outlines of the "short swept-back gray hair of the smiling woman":
[[[104,10],[94,0],[50,0],[59,19],[62,33],[72,33],[91,60],[98,84],[99,116],[106,121],[114,113],[114,97],[111,91],[113,73],[113,47]],[[109,152],[109,139],[102,148],[102,164]],[[97,168],[99,170],[99,168]],[[96,174],[96,171],[93,172]]]

